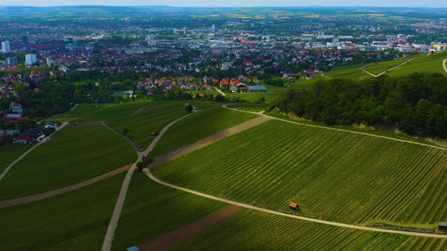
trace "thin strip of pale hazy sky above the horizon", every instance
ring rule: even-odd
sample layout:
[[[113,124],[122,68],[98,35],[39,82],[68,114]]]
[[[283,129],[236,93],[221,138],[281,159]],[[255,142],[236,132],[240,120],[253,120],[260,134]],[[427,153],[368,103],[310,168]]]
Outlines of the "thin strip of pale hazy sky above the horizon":
[[[15,0],[0,1],[0,6],[387,6],[387,7],[447,7],[447,1],[420,0]]]

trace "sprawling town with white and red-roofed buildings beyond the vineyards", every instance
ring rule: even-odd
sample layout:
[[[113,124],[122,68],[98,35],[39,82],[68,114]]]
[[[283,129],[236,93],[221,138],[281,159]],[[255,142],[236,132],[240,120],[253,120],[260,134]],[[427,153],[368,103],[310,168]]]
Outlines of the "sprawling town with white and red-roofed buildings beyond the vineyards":
[[[75,86],[71,100],[59,99],[47,109],[57,114],[70,102],[173,98],[175,91],[265,92],[262,79],[314,79],[338,66],[447,48],[444,20],[387,25],[369,17],[321,17],[284,31],[276,28],[281,19],[231,18],[214,24],[174,18],[152,22],[154,17],[1,23],[3,120],[50,115],[20,100],[20,95],[45,95],[48,83]],[[10,106],[19,101],[25,109]]]

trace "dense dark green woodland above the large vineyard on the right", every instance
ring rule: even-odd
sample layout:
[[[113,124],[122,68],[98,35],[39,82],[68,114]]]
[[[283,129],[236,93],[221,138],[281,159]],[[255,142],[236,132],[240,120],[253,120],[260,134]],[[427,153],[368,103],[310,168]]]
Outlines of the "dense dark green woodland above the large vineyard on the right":
[[[327,125],[395,126],[411,135],[447,137],[447,78],[440,74],[332,79],[291,90],[275,105]]]

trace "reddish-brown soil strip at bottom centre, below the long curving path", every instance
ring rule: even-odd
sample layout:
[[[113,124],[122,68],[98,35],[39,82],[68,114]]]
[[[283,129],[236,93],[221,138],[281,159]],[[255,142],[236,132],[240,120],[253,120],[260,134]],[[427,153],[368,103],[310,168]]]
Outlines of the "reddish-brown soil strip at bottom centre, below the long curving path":
[[[168,234],[163,234],[162,236],[156,237],[147,243],[143,243],[139,245],[138,248],[142,251],[170,250],[171,248],[175,248],[175,246],[188,241],[197,234],[200,234],[200,232],[210,229],[211,227],[214,227],[214,225],[223,222],[242,209],[244,208],[241,206],[227,206],[226,208],[222,208],[216,213],[212,213],[205,218],[197,220],[196,222],[192,222],[189,225],[180,227],[179,229],[171,231]]]

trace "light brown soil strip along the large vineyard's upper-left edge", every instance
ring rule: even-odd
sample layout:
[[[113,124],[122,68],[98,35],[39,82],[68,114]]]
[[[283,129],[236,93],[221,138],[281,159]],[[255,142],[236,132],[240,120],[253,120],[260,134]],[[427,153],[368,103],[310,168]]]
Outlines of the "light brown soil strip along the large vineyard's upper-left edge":
[[[205,139],[201,139],[196,143],[190,144],[189,146],[184,146],[180,149],[171,151],[169,153],[166,153],[164,155],[160,155],[159,157],[156,157],[154,162],[149,164],[147,168],[156,167],[159,165],[163,165],[166,162],[169,162],[170,160],[173,160],[175,158],[179,158],[183,155],[186,155],[188,153],[191,153],[192,151],[195,151],[196,149],[200,149],[202,147],[208,146],[214,142],[218,142],[221,139],[224,139],[226,137],[229,137],[231,135],[235,135],[239,132],[242,132],[244,130],[247,130],[249,128],[254,128],[255,126],[260,125],[261,123],[264,123],[265,121],[270,120],[270,118],[265,116],[260,116],[256,119],[251,119],[249,121],[246,121],[244,123],[241,123],[237,126],[233,126],[232,128],[229,128],[227,130],[223,130],[222,132],[218,132],[215,135],[211,135],[210,137],[206,137]]]

